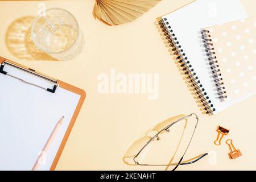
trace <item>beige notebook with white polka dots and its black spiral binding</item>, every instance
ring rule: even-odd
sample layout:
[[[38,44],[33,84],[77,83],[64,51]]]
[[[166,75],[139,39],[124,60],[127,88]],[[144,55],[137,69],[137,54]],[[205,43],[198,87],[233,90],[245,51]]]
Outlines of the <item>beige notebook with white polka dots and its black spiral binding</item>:
[[[201,31],[216,94],[221,101],[256,93],[256,16]]]

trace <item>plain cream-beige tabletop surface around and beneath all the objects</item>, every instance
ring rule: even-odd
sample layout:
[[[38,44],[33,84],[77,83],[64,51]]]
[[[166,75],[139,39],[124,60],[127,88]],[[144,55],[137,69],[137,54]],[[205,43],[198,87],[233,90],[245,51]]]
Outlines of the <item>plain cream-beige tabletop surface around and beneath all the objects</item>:
[[[163,169],[126,166],[122,156],[131,142],[151,126],[173,115],[192,112],[199,114],[200,123],[187,157],[213,151],[217,163],[211,165],[208,156],[178,169],[256,169],[256,97],[212,117],[201,115],[155,28],[156,17],[191,1],[163,0],[141,18],[117,27],[93,19],[94,0],[40,2],[45,2],[47,8],[62,7],[76,16],[85,36],[82,54],[68,62],[16,59],[5,45],[7,27],[15,19],[35,16],[39,1],[5,1],[0,2],[0,55],[86,90],[85,104],[57,169]],[[243,5],[255,15],[255,2],[245,0]],[[109,73],[110,68],[118,73],[159,73],[158,100],[148,100],[146,94],[98,94],[97,76]],[[230,129],[229,138],[242,151],[241,158],[229,160],[226,144],[214,146],[217,125]]]

